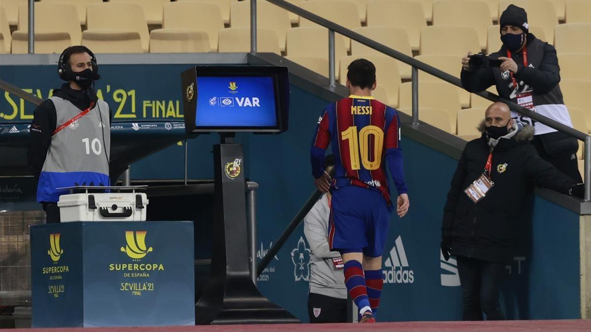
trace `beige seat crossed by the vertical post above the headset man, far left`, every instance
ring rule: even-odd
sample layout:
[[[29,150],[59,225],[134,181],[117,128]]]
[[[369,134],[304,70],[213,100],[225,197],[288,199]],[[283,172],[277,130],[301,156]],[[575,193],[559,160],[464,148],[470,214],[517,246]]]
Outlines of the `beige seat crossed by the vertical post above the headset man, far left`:
[[[24,35],[28,31],[28,14],[28,5],[21,5],[18,8],[18,32],[22,32]],[[12,32],[12,38],[14,38],[15,32]],[[69,34],[69,37],[65,38],[63,34],[54,34],[55,32],[64,32]],[[66,47],[80,44],[82,29],[76,7],[69,4],[54,4],[53,2],[35,2],[35,35],[37,34],[43,38],[44,45],[40,44],[40,47],[44,50],[53,50],[52,47],[56,47],[54,43],[63,45],[66,39],[70,40],[70,44]],[[19,35],[19,38],[17,45],[22,41],[22,35]],[[41,53],[40,50],[41,48],[37,50],[35,47],[35,53]],[[12,53],[15,53],[14,50]],[[25,53],[27,52],[25,51]],[[48,53],[54,53],[54,51]]]

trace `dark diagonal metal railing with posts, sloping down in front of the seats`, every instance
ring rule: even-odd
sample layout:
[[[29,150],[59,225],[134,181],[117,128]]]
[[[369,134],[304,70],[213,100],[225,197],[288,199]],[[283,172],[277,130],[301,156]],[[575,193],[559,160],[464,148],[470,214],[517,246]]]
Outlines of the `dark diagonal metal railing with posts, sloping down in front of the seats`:
[[[266,0],[271,2],[271,4],[280,6],[281,8],[286,9],[289,12],[293,12],[300,17],[308,19],[316,24],[322,25],[322,27],[328,28],[329,30],[329,85],[335,86],[335,32],[349,37],[352,40],[358,41],[359,43],[366,45],[368,47],[373,48],[376,51],[381,52],[387,56],[393,57],[396,60],[402,61],[406,64],[409,64],[412,69],[412,76],[411,76],[411,85],[412,85],[412,109],[413,109],[413,127],[417,128],[420,123],[418,122],[418,70],[424,71],[428,74],[431,74],[445,82],[451,83],[455,86],[462,87],[462,82],[459,78],[452,76],[444,71],[441,71],[435,67],[431,67],[426,63],[416,60],[413,57],[407,56],[406,54],[400,53],[393,48],[389,48],[383,44],[377,43],[374,40],[369,39],[361,34],[358,34],[355,31],[349,30],[348,28],[343,27],[342,25],[335,24],[335,22],[329,21],[326,18],[322,18],[316,14],[313,14],[309,11],[301,9],[299,6],[290,4],[290,2],[284,0]],[[255,11],[255,12],[252,12]],[[252,25],[255,25],[255,28],[252,28]],[[256,41],[256,0],[251,0],[251,46],[255,46],[251,48],[251,51],[256,52],[256,43],[252,44],[252,40]],[[564,132],[567,135],[573,136],[574,138],[579,139],[580,141],[584,142],[584,200],[590,201],[591,200],[591,136],[577,131],[569,126],[564,125],[563,123],[557,122],[553,119],[547,118],[543,115],[535,113],[534,111],[523,108],[517,105],[511,100],[506,100],[502,97],[499,97],[491,92],[479,92],[476,93],[481,97],[484,97],[492,102],[504,102],[506,105],[509,106],[511,110],[517,112],[521,115],[527,116],[537,122],[543,123],[551,128],[556,129],[557,131]]]

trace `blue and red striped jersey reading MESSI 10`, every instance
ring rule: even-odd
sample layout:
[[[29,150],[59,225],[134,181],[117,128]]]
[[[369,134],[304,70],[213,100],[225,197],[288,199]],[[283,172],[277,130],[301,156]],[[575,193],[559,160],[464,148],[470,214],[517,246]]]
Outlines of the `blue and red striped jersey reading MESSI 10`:
[[[362,96],[349,96],[327,106],[312,141],[314,178],[324,172],[324,153],[331,142],[336,168],[332,187],[358,185],[377,190],[390,205],[388,162],[398,194],[407,193],[395,109]]]

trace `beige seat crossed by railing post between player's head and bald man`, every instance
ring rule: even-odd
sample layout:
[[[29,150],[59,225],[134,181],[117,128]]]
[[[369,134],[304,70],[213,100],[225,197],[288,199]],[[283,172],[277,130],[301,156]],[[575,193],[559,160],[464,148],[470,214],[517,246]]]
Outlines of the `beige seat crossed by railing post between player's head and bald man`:
[[[401,108],[413,106],[412,83],[400,84],[399,105]],[[418,106],[419,108],[432,108],[444,110],[447,113],[451,134],[456,134],[457,110],[461,109],[460,97],[454,86],[444,82],[418,82]],[[419,116],[421,119],[421,116]]]

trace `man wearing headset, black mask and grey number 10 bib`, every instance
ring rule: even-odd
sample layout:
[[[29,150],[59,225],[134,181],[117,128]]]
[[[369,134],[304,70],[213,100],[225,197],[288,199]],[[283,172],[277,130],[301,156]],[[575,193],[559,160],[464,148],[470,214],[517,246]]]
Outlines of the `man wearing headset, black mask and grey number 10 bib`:
[[[67,83],[35,109],[27,150],[47,223],[60,222],[57,201],[67,191],[57,188],[109,185],[111,113],[92,87],[100,79],[96,57],[84,46],[68,47],[57,72]]]

